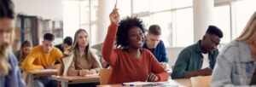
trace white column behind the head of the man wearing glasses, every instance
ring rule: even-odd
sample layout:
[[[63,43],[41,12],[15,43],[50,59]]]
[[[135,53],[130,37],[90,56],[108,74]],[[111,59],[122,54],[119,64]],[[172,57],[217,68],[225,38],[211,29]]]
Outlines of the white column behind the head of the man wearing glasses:
[[[193,0],[194,42],[203,38],[207,27],[213,22],[214,0]]]

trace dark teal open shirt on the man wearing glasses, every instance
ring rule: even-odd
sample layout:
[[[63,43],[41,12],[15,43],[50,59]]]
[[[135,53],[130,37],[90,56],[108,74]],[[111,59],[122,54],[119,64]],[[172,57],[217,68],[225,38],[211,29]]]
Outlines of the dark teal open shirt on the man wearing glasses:
[[[192,44],[189,47],[183,49],[177,56],[174,69],[172,72],[172,78],[183,78],[184,74],[189,71],[201,70],[203,63],[203,55],[201,55],[200,42]],[[218,49],[214,49],[208,53],[210,68],[214,68],[216,57],[218,55]]]

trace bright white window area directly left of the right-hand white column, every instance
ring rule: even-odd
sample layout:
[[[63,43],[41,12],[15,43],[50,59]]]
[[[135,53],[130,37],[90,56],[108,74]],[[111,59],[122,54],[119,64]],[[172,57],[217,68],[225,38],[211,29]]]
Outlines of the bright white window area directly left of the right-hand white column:
[[[186,47],[194,44],[193,9],[179,9],[175,13],[176,22],[172,27],[175,30],[173,47]]]

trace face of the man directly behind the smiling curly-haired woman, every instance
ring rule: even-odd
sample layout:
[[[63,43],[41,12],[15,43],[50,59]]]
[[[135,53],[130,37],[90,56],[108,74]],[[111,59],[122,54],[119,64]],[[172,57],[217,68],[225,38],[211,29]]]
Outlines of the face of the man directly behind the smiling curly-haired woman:
[[[148,49],[154,49],[160,42],[160,35],[148,34],[147,35],[147,46]]]

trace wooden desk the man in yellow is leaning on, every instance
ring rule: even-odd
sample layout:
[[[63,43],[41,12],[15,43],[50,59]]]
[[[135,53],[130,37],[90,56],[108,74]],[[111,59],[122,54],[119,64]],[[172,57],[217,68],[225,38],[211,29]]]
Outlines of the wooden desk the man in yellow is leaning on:
[[[57,69],[44,69],[44,70],[34,70],[34,71],[25,71],[27,78],[28,78],[28,87],[32,87],[32,84],[34,83],[33,79],[34,76],[51,76],[51,75],[57,75],[58,70]]]

